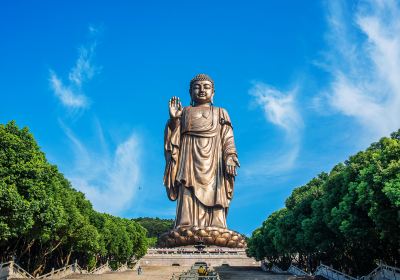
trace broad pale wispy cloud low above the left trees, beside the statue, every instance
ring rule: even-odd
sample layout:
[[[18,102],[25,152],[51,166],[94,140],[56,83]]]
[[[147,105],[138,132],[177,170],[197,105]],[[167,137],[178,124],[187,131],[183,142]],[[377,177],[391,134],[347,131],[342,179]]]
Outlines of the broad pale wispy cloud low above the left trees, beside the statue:
[[[131,134],[108,152],[101,125],[97,123],[100,149],[89,148],[65,124],[64,132],[75,154],[74,168],[67,173],[72,185],[84,192],[96,210],[120,214],[132,203],[140,181],[140,141]]]

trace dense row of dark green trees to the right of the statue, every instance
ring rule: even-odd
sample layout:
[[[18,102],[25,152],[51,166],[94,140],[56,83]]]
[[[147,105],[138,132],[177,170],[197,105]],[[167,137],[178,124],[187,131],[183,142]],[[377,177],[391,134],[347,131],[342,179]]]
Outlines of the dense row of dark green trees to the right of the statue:
[[[249,255],[353,275],[380,260],[400,266],[400,130],[296,188],[285,206],[253,232]]]

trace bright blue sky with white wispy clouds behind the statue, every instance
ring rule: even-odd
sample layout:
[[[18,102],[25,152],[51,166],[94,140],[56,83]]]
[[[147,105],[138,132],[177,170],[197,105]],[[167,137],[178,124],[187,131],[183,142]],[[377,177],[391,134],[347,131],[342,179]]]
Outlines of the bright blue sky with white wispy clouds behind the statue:
[[[0,42],[0,122],[119,216],[174,217],[163,129],[197,73],[234,125],[245,234],[400,127],[398,1],[2,1]]]

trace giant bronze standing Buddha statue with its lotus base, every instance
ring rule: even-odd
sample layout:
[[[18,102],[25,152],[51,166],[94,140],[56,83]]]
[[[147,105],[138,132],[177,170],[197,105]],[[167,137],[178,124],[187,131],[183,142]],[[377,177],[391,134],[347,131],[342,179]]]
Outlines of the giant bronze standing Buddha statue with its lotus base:
[[[228,112],[214,106],[214,82],[209,76],[195,76],[189,92],[190,106],[183,107],[178,97],[169,101],[164,185],[177,208],[175,228],[160,239],[161,245],[191,245],[201,240],[243,247],[243,237],[226,225],[240,166]]]

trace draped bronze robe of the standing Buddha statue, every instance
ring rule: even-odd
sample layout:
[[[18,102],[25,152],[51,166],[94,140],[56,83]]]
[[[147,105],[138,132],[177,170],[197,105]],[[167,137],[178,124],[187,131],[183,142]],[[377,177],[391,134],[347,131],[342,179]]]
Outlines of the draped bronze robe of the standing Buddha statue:
[[[164,185],[177,200],[175,227],[226,228],[234,177],[227,157],[236,155],[228,113],[214,106],[185,107],[165,128]]]

